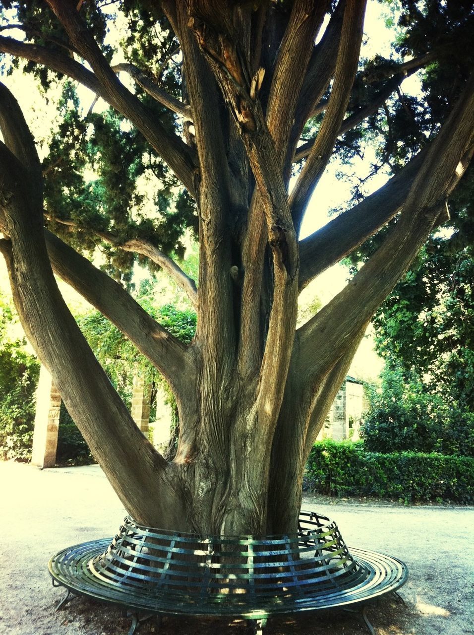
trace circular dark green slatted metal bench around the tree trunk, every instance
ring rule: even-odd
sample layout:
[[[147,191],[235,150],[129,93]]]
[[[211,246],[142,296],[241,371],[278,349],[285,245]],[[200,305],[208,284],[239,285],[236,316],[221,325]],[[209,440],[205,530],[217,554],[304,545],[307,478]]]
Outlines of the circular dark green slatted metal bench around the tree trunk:
[[[345,545],[325,516],[301,512],[298,534],[202,537],[138,525],[58,552],[53,584],[135,613],[232,616],[261,632],[269,615],[348,607],[394,592],[402,561]],[[365,623],[370,626],[365,613]],[[374,632],[373,629],[371,632]]]

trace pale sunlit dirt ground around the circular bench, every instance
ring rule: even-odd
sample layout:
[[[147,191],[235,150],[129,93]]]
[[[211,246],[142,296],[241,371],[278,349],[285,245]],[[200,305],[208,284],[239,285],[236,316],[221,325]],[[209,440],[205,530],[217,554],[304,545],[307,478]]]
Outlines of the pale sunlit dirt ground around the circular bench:
[[[0,634],[127,635],[118,608],[54,589],[47,563],[78,542],[111,536],[125,511],[96,465],[49,469],[0,462]],[[367,610],[377,635],[474,634],[474,508],[353,504],[305,497],[303,509],[334,519],[346,543],[397,556],[410,576],[400,590],[405,606],[383,598]],[[165,617],[140,635],[243,635],[241,620]],[[332,611],[268,620],[265,635],[360,635],[356,615]]]

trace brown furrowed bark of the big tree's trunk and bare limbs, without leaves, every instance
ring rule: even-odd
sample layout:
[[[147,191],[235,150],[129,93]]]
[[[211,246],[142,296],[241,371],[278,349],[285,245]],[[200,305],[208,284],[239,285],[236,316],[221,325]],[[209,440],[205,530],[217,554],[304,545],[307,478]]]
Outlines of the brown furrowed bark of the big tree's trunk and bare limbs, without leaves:
[[[378,192],[298,242],[308,198],[338,135],[376,112],[401,77],[434,53],[387,70],[374,101],[345,119],[354,103],[362,0],[339,1],[317,46],[329,3],[295,0],[284,11],[270,2],[164,0],[183,54],[180,101],[159,90],[147,69],[110,67],[75,3],[48,4],[69,37],[66,52],[3,36],[0,51],[91,88],[129,118],[195,197],[198,286],[148,241],[119,244],[112,232],[98,237],[166,269],[187,290],[198,326],[192,344],[180,344],[119,284],[44,231],[34,142],[15,100],[0,87],[0,250],[25,330],[138,521],[224,535],[294,531],[305,460],[365,327],[440,222],[445,197],[473,154],[473,80],[418,157]],[[188,143],[150,116],[121,84],[122,71],[192,121],[193,134],[185,124]],[[331,80],[326,104],[321,100]],[[289,197],[295,148],[316,108],[326,114],[315,140],[296,152],[308,158]],[[385,243],[345,290],[296,330],[299,288],[397,215]],[[161,457],[131,420],[65,307],[53,271],[167,378],[180,414],[173,461]]]

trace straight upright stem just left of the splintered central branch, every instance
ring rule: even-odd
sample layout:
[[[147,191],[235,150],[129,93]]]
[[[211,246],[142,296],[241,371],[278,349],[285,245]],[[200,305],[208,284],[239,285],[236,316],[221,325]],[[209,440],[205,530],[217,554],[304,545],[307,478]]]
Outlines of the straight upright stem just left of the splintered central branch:
[[[173,19],[168,8],[167,14]],[[234,208],[239,190],[231,185],[226,134],[228,113],[221,102],[214,76],[188,27],[188,17],[187,3],[176,3],[173,26],[183,51],[183,69],[199,157],[199,171],[195,173],[200,232],[196,340],[203,345],[204,365],[209,370],[209,383],[212,384],[221,381],[214,375],[217,360],[223,375],[230,376],[233,368],[229,351],[235,350],[234,291],[230,277],[234,262],[228,211]],[[220,325],[219,329],[214,328],[216,323]]]

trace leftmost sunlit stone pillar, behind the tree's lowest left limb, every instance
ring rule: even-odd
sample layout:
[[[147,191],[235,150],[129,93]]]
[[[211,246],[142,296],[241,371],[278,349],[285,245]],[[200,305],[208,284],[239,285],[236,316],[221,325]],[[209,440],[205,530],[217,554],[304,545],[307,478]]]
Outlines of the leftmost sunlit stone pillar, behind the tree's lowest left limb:
[[[60,410],[61,396],[46,366],[41,366],[36,389],[32,465],[55,466]]]

